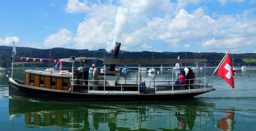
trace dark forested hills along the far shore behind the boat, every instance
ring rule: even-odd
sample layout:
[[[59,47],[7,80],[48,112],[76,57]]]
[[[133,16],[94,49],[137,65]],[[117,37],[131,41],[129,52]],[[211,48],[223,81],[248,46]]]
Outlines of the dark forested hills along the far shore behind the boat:
[[[10,68],[12,60],[10,59],[12,55],[12,46],[0,46],[0,53],[2,55],[2,67]],[[38,58],[38,59],[62,59],[69,58],[70,56],[75,57],[111,57],[112,52],[106,52],[105,49],[98,50],[88,50],[88,49],[68,49],[68,48],[51,48],[51,49],[37,49],[37,48],[28,48],[28,47],[16,47],[17,55],[14,57],[14,62],[20,62],[20,57],[29,57],[29,58]],[[179,56],[180,59],[207,59],[208,62],[206,66],[217,66],[225,54],[217,52],[153,52],[154,59],[177,59]],[[120,50],[119,58],[140,58],[140,59],[151,59],[152,52],[143,51],[143,52],[127,52]],[[256,66],[256,53],[242,53],[242,54],[231,54],[235,66]],[[246,60],[245,60],[246,59]],[[249,59],[249,60],[248,60]],[[22,59],[23,63],[15,64],[16,67],[49,67],[53,65],[53,62],[43,61],[32,62],[30,59],[28,62],[25,62],[25,59]],[[25,62],[25,63],[24,63]],[[102,62],[96,62],[96,66],[102,66]],[[194,66],[194,63],[188,63],[187,66]],[[202,63],[199,66],[202,66]],[[203,63],[204,65],[204,63]],[[14,66],[14,67],[15,67]],[[71,65],[67,65],[71,66]],[[147,66],[147,65],[142,65]],[[157,65],[156,65],[157,66]],[[163,65],[170,66],[170,65]]]

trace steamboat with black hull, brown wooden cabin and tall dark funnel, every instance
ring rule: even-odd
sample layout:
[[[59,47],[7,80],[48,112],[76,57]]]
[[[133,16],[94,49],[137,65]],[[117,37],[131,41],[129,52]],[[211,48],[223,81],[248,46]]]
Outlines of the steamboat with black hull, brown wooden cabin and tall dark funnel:
[[[206,59],[122,59],[118,58],[120,43],[113,51],[112,58],[70,57],[60,59],[62,62],[72,62],[72,70],[45,71],[40,69],[26,69],[25,81],[9,79],[9,95],[18,98],[42,100],[76,100],[76,101],[141,101],[141,100],[174,100],[194,97],[215,90],[211,81],[206,77],[196,78],[191,84],[175,85],[173,78],[163,80],[144,80],[140,72],[134,79],[117,79],[115,65],[137,65],[138,70],[142,64],[172,64],[181,62],[206,62]],[[98,74],[98,80],[88,80],[79,77],[79,70],[74,69],[74,62],[81,59],[100,60],[109,70]],[[95,84],[92,84],[95,83]],[[97,90],[93,90],[93,86]],[[192,88],[195,87],[195,88]]]

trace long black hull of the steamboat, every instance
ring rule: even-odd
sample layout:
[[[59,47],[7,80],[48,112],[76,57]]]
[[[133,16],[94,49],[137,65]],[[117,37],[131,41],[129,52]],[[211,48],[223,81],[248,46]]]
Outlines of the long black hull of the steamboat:
[[[215,90],[215,89],[213,89]],[[213,90],[170,93],[170,94],[88,94],[88,93],[69,93],[64,90],[52,90],[24,84],[17,84],[9,80],[9,96],[26,99],[39,100],[68,100],[68,101],[156,101],[156,100],[180,100],[192,98],[197,95]]]

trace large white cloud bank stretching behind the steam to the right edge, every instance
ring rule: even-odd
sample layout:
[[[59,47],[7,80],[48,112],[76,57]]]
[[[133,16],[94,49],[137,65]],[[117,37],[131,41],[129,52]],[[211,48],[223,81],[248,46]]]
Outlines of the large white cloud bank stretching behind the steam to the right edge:
[[[116,6],[112,2],[90,4],[87,1],[69,0],[66,11],[86,14],[77,28],[74,48],[108,48],[113,42],[121,42],[121,49],[149,48],[145,43],[159,43],[173,48],[201,45],[203,49],[239,48],[240,45],[255,45],[255,9],[243,14],[207,14],[207,7],[199,7],[189,12],[184,8],[189,4],[199,4],[202,0],[121,0]],[[243,0],[218,0],[242,2]],[[118,7],[123,10],[123,19],[118,19]],[[123,20],[123,21],[122,21]],[[120,22],[115,31],[115,21]],[[189,43],[189,44],[187,44]]]

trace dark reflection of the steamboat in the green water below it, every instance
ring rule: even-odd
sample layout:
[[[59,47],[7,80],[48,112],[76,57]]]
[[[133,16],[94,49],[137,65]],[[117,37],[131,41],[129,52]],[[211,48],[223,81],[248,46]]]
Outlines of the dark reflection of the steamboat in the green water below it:
[[[153,103],[85,103],[10,98],[9,116],[13,123],[12,130],[18,130],[17,124],[43,130],[52,129],[53,126],[61,130],[83,131],[197,130],[203,129],[202,125],[207,123],[201,121],[203,118],[214,121],[214,107],[214,103],[197,99]]]

